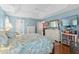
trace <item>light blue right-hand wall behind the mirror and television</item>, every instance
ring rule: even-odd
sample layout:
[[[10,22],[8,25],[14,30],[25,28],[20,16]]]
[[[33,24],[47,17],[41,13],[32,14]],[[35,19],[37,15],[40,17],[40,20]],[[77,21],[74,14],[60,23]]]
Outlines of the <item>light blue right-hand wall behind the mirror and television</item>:
[[[61,12],[61,11],[59,11]],[[63,12],[63,13],[60,13],[58,15],[51,15],[51,16],[48,16],[48,17],[45,17],[44,19],[46,20],[55,20],[55,19],[63,19],[64,23],[65,24],[68,24],[69,22],[69,17],[72,17],[72,16],[77,16],[77,19],[78,19],[78,27],[79,27],[79,8],[76,8],[76,9],[73,9],[73,10],[70,10],[68,12]],[[78,29],[77,27],[77,29]]]

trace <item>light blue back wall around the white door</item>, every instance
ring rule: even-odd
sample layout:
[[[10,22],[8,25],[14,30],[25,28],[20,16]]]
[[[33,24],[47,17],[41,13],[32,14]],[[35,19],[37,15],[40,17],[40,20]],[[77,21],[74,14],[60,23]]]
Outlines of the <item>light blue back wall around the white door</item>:
[[[27,33],[27,26],[35,26],[35,32],[37,32],[37,22],[38,20],[37,19],[32,19],[32,18],[21,18],[21,17],[16,17],[16,16],[9,16],[12,24],[13,24],[13,32],[16,32],[16,25],[15,25],[15,22],[16,20],[24,20],[24,27],[25,27],[25,33]],[[17,23],[18,24],[18,23]]]

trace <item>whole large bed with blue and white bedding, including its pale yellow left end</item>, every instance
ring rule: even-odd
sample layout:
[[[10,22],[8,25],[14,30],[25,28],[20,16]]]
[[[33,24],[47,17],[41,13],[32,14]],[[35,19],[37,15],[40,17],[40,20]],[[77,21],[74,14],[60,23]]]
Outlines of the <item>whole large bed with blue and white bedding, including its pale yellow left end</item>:
[[[35,33],[14,37],[5,42],[8,43],[7,46],[0,47],[0,53],[3,54],[49,54],[53,49],[50,39]]]

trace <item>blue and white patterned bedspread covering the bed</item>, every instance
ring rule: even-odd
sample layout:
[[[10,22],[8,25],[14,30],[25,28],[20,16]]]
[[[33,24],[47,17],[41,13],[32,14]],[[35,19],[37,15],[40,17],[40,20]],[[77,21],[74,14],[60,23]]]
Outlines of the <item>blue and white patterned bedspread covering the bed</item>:
[[[48,54],[53,49],[52,41],[38,34],[25,35],[19,41],[14,41],[14,47],[9,49],[9,54]]]

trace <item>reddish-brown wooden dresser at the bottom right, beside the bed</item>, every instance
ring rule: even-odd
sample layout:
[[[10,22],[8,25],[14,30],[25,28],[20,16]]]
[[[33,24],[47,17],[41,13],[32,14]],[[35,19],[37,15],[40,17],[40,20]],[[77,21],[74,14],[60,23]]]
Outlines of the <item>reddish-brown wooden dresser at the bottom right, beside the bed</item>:
[[[59,42],[55,42],[54,54],[71,54],[70,46]]]

